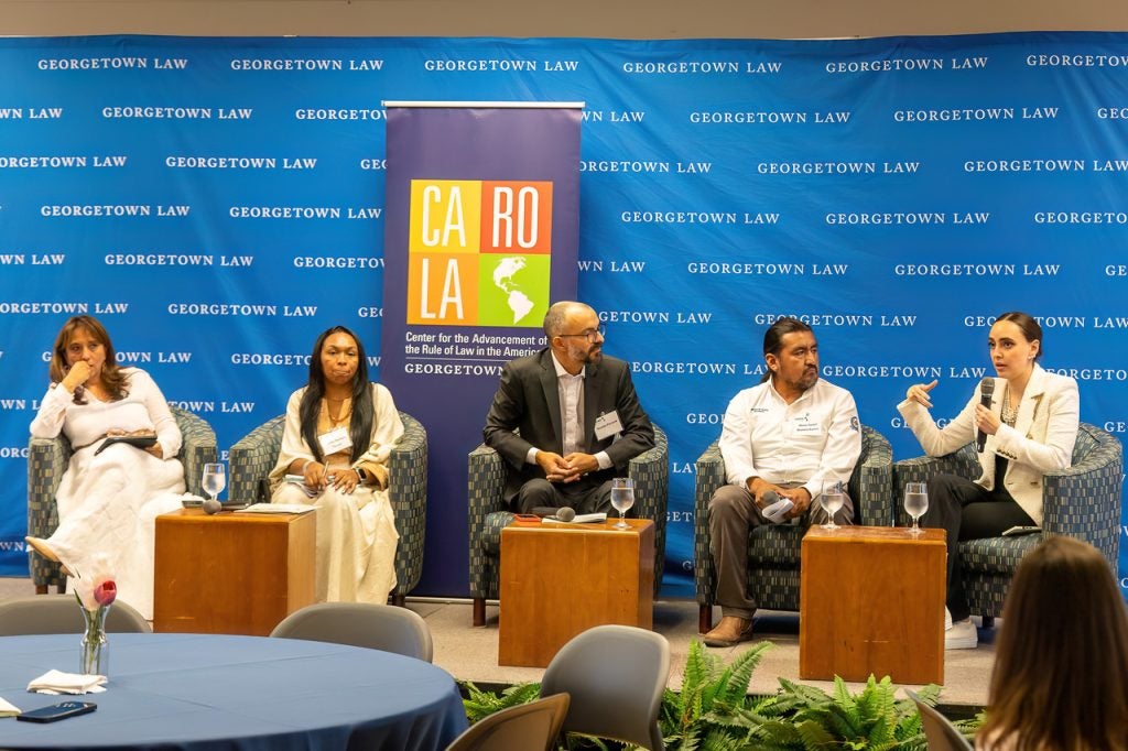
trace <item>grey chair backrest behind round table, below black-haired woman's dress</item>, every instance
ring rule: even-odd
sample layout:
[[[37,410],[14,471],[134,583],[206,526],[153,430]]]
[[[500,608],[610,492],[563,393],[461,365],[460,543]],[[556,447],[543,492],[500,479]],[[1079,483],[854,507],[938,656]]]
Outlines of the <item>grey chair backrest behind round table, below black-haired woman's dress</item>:
[[[319,602],[287,616],[271,636],[333,642],[431,662],[431,629],[418,613],[369,602]]]

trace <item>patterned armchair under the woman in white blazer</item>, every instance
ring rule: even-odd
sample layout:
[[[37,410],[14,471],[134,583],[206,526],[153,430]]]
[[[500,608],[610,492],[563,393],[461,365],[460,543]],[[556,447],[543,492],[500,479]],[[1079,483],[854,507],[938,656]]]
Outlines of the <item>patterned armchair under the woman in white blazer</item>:
[[[971,612],[985,625],[1003,615],[1011,576],[1026,551],[1048,534],[1066,534],[1093,545],[1117,571],[1120,545],[1120,495],[1123,450],[1120,441],[1082,423],[1073,449],[1073,466],[1046,475],[1042,485],[1042,532],[989,537],[960,544],[963,585]],[[945,457],[917,457],[893,465],[893,513],[898,525],[910,524],[900,498],[906,483],[927,483],[942,472],[978,479],[979,460],[969,443]]]

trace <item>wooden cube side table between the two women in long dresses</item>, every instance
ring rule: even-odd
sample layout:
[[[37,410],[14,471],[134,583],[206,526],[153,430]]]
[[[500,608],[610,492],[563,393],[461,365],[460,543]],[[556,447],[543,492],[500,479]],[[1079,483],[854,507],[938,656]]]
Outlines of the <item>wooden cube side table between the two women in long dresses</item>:
[[[314,602],[316,512],[157,516],[153,630],[267,636]]]

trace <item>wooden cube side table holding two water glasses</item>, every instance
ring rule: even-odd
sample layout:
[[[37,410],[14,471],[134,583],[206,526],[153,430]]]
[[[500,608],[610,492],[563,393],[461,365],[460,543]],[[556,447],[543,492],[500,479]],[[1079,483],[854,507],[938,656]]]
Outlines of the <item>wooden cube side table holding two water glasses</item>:
[[[803,537],[799,677],[943,683],[944,537],[812,525]]]

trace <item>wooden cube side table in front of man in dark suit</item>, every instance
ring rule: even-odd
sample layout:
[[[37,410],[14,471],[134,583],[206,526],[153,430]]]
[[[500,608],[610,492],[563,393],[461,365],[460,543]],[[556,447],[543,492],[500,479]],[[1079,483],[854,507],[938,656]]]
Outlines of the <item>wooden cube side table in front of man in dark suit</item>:
[[[502,530],[497,664],[545,668],[592,626],[652,627],[654,522],[617,521]]]

